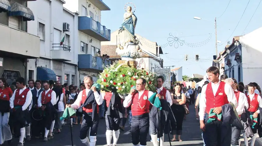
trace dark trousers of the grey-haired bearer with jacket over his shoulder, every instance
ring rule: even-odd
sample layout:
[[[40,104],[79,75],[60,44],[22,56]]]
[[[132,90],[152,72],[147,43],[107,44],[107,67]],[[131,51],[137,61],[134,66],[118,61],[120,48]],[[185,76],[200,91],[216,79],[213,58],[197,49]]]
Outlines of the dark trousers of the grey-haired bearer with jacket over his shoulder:
[[[90,113],[85,113],[83,114],[83,122],[80,128],[80,139],[85,139],[88,130],[90,130],[90,136],[96,136],[97,134],[97,129],[98,129],[98,124],[99,124],[99,115],[96,114],[94,121],[92,121],[92,112]]]

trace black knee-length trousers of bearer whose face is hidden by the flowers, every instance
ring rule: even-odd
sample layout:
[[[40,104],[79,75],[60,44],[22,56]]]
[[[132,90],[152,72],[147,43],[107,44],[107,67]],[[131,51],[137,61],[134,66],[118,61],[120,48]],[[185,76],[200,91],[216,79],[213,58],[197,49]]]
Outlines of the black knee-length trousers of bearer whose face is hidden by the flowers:
[[[114,112],[111,112],[111,114],[114,114]],[[119,118],[114,118],[116,116],[108,116],[107,112],[105,115],[105,121],[107,125],[107,130],[114,130],[117,131],[119,129],[119,124],[120,124],[120,119]]]

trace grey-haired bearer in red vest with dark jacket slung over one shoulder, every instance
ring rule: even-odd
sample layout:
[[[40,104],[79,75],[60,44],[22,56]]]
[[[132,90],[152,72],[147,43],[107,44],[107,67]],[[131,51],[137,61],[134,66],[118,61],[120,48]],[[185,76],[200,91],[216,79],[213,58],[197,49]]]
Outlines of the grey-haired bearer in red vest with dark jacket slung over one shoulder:
[[[86,89],[82,90],[78,94],[78,98],[72,105],[66,105],[66,107],[72,107],[73,109],[82,109],[83,111],[83,122],[80,128],[80,139],[82,143],[87,146],[95,146],[96,134],[99,123],[99,105],[103,103],[100,91],[96,90],[93,85],[93,77],[88,75],[84,77],[84,84]],[[90,142],[87,134],[89,127],[90,130]]]

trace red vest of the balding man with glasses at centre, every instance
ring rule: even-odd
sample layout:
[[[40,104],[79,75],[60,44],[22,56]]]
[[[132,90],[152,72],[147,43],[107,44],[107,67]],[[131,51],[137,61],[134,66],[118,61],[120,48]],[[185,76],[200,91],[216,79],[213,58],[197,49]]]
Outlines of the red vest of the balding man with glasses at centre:
[[[132,96],[132,101],[133,101],[131,105],[132,116],[138,116],[138,115],[149,113],[149,108],[151,103],[150,101],[148,101],[148,90],[145,90],[143,92],[140,99],[138,99],[138,93],[135,93]]]

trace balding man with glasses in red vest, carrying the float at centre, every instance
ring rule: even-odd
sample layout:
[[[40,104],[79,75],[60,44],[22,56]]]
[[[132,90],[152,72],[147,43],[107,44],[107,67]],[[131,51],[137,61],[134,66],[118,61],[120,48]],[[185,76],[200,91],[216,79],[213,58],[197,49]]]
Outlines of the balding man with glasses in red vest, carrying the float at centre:
[[[145,87],[146,80],[144,78],[137,79],[136,90],[132,89],[130,94],[128,94],[123,101],[124,107],[129,107],[131,105],[131,136],[133,146],[146,146],[147,134],[149,130],[149,107],[151,105],[148,98],[154,93],[145,90]]]

